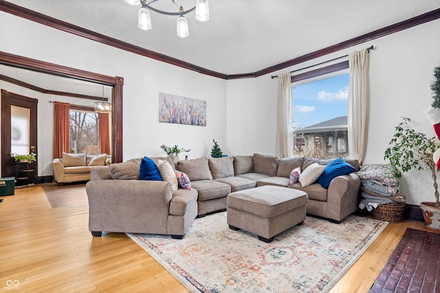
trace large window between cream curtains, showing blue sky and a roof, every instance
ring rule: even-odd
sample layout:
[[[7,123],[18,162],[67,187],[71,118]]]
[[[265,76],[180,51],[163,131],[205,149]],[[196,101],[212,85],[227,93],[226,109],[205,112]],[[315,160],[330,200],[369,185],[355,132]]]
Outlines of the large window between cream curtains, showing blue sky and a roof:
[[[292,76],[294,154],[331,159],[348,157],[348,62]],[[336,69],[333,71],[333,69]],[[317,74],[316,72],[324,72]],[[295,81],[296,80],[296,81]]]

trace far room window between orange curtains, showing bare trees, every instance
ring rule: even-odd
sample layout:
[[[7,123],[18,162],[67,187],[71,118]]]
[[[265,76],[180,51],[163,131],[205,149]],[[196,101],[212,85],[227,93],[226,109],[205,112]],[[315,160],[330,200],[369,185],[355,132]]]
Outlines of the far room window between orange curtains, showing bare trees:
[[[73,108],[69,113],[69,152],[100,154],[99,119],[93,108]]]

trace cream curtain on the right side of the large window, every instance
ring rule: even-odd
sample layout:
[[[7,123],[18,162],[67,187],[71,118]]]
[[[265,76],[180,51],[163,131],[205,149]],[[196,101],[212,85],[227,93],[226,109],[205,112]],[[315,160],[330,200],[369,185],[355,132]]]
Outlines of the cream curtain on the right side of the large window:
[[[369,54],[366,49],[349,54],[349,154],[364,160],[369,124]]]

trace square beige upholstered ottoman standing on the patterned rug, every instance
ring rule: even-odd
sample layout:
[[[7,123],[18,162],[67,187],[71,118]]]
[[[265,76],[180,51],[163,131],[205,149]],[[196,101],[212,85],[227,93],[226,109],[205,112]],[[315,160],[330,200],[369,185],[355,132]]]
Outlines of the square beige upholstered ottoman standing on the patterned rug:
[[[304,191],[264,185],[235,191],[227,198],[227,222],[231,229],[243,229],[270,243],[275,235],[305,220],[307,194]]]

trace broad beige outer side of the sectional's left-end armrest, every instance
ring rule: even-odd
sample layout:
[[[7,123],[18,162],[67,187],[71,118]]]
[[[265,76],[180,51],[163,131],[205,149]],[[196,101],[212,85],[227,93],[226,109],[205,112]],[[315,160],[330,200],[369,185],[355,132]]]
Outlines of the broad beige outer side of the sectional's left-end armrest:
[[[89,230],[167,234],[170,183],[148,180],[90,180]]]

